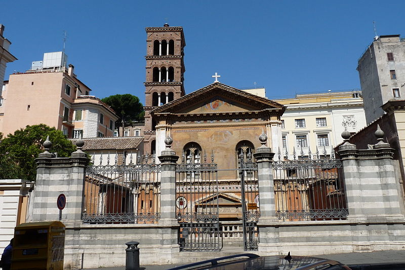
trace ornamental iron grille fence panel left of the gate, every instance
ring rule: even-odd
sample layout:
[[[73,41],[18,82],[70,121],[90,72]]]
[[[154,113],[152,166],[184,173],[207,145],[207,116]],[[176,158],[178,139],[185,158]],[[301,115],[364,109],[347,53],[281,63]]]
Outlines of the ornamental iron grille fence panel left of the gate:
[[[143,163],[139,158],[138,164],[133,164],[131,155],[125,165],[127,162],[122,155],[116,154],[114,165],[110,165],[110,155],[101,154],[99,165],[86,168],[83,222],[157,223],[160,219],[160,165],[154,160],[146,156]]]

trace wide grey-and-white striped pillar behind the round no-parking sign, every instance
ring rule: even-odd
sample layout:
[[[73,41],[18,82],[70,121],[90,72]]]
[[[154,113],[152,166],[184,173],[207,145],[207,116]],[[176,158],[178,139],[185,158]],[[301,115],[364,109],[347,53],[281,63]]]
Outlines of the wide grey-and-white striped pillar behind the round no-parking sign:
[[[54,158],[48,150],[52,143],[44,142],[45,152],[35,159],[37,165],[35,188],[31,193],[27,222],[51,221],[60,219],[57,207],[58,196],[66,197],[61,221],[77,222],[81,220],[85,168],[88,158],[82,151],[84,141],[76,141],[77,151],[70,158]]]

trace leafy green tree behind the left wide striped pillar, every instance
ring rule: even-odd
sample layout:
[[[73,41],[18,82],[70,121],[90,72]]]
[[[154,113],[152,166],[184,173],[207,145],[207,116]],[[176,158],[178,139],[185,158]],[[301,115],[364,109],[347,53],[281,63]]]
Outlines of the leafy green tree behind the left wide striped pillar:
[[[57,152],[60,158],[69,157],[76,150],[76,147],[66,139],[60,130],[44,124],[26,126],[25,129],[9,134],[0,143],[0,162],[4,166],[11,166],[7,178],[23,178],[35,181],[35,159],[39,153],[44,151],[42,144],[47,136],[52,142],[49,151]]]

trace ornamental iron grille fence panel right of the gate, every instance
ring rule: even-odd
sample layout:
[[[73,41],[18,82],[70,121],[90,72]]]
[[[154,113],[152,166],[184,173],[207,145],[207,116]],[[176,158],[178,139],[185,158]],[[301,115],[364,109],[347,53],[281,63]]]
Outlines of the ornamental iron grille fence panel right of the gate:
[[[302,153],[303,155],[303,153]],[[342,162],[332,155],[273,162],[276,216],[285,221],[341,220],[348,215]]]

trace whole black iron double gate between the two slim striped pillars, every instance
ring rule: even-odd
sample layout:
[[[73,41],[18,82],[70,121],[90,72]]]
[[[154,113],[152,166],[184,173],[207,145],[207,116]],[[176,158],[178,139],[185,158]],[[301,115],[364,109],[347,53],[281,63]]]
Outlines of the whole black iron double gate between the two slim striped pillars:
[[[257,250],[260,205],[256,163],[248,155],[239,157],[237,169],[219,170],[213,156],[211,163],[206,155],[203,160],[196,149],[176,166],[180,251],[219,251],[224,241],[243,241],[244,250]],[[220,218],[227,221],[222,223]]]

